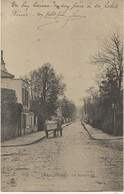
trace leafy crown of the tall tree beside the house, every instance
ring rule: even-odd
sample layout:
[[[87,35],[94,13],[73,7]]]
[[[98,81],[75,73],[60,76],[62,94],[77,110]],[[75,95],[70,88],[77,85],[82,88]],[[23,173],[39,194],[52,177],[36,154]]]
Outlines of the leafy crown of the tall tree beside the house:
[[[44,121],[56,114],[58,98],[65,89],[62,79],[49,63],[30,72],[31,109]]]

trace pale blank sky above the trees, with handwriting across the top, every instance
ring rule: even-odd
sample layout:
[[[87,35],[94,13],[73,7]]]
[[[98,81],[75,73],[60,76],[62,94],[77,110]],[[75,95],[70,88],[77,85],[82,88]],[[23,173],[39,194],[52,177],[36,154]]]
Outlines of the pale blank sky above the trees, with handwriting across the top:
[[[29,5],[27,10],[22,7],[24,0],[16,0],[15,7],[12,7],[13,2],[2,0],[1,47],[8,72],[18,78],[49,62],[57,74],[63,75],[67,98],[77,106],[82,105],[85,90],[96,84],[98,73],[98,68],[89,63],[90,57],[100,49],[109,33],[115,29],[122,31],[123,1],[30,0],[25,3]],[[33,7],[35,2],[50,6]],[[74,8],[75,3],[83,5],[83,9]],[[55,4],[68,5],[69,8],[65,11],[54,7]],[[100,5],[101,9],[95,9],[95,5]],[[64,17],[51,17],[53,12],[58,13],[57,9],[64,13]],[[18,13],[28,16],[18,16]],[[45,17],[47,13],[49,18]],[[42,18],[38,14],[42,14]],[[65,24],[70,16],[72,20]],[[75,18],[77,20],[73,20]]]

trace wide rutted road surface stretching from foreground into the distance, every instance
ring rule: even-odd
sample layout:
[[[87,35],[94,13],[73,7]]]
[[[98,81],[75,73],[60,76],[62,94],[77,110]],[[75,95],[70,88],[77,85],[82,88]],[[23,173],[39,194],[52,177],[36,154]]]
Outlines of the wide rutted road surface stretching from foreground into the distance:
[[[63,137],[3,147],[2,191],[122,191],[122,139],[95,134],[77,120]]]

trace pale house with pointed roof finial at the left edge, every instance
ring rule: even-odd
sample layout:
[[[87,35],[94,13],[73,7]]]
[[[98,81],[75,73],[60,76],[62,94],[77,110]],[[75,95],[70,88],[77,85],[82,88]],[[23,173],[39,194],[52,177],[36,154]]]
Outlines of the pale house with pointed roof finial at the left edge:
[[[16,79],[8,73],[1,51],[1,88],[14,90],[17,102],[22,104],[21,122],[19,125],[21,135],[37,131],[37,116],[30,111],[30,85],[23,79]]]

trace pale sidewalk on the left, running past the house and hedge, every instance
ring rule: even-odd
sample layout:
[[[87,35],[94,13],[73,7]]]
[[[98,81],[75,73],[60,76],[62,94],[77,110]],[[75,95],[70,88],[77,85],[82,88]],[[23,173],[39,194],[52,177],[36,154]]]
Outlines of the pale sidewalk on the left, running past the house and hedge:
[[[70,125],[71,123],[72,122],[66,123],[66,124],[62,125],[62,127],[64,128],[64,127]],[[12,139],[12,140],[4,141],[1,143],[1,147],[27,146],[27,145],[35,144],[44,138],[46,138],[45,132],[38,131],[35,133],[31,133],[29,135],[25,135],[23,137],[17,137],[17,138]]]

